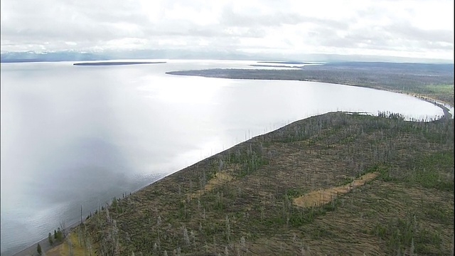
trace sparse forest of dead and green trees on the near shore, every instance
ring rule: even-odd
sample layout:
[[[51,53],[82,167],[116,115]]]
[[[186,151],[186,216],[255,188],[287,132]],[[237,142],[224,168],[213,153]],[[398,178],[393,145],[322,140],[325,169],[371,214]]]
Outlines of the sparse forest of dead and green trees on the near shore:
[[[450,255],[454,121],[310,117],[114,198],[74,233],[85,255]]]

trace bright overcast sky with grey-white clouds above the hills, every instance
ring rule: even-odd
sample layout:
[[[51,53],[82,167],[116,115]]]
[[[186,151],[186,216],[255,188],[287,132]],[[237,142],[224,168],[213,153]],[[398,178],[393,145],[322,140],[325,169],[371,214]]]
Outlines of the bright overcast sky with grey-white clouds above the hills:
[[[453,0],[1,0],[1,51],[213,49],[454,58]]]

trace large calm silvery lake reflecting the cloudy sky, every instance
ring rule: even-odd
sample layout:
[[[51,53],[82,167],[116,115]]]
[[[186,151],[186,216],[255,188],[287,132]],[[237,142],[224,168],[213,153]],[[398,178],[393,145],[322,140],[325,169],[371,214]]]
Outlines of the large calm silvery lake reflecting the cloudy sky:
[[[85,217],[114,196],[297,119],[337,110],[443,114],[414,97],[362,87],[165,74],[253,61],[166,61],[1,63],[1,255],[77,222],[81,206]]]

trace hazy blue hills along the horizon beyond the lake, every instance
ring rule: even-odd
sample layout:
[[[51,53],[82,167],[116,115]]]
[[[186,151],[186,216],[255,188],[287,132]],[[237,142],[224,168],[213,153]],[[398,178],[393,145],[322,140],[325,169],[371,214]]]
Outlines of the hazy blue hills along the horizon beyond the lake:
[[[138,59],[200,59],[200,60],[262,60],[263,63],[304,64],[306,62],[400,62],[400,63],[453,63],[453,60],[425,58],[402,58],[375,55],[336,55],[336,54],[277,54],[246,53],[237,50],[103,50],[103,51],[20,51],[2,52],[2,63],[41,62],[41,61],[80,61],[80,60],[138,60]]]

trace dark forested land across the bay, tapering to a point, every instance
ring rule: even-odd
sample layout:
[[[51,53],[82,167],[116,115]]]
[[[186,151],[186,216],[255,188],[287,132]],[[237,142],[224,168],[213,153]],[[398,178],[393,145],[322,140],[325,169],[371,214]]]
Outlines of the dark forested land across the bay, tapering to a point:
[[[438,85],[453,86],[453,71],[449,70],[446,65],[441,65],[441,70],[434,69],[437,65],[427,67],[412,63],[392,64],[390,67],[384,67],[385,64],[375,65],[375,63],[369,63],[371,67],[366,68],[361,66],[359,68],[359,65],[355,65],[355,63],[350,63],[349,65],[335,63],[333,65],[306,65],[304,68],[267,65],[272,68],[285,69],[210,68],[205,70],[169,71],[166,74],[241,80],[326,82],[404,93],[419,98],[425,97],[451,107],[454,106],[453,89],[450,92],[449,87],[444,89],[444,91],[440,91],[441,89],[437,88]],[[250,66],[262,67],[263,65],[253,64]]]

